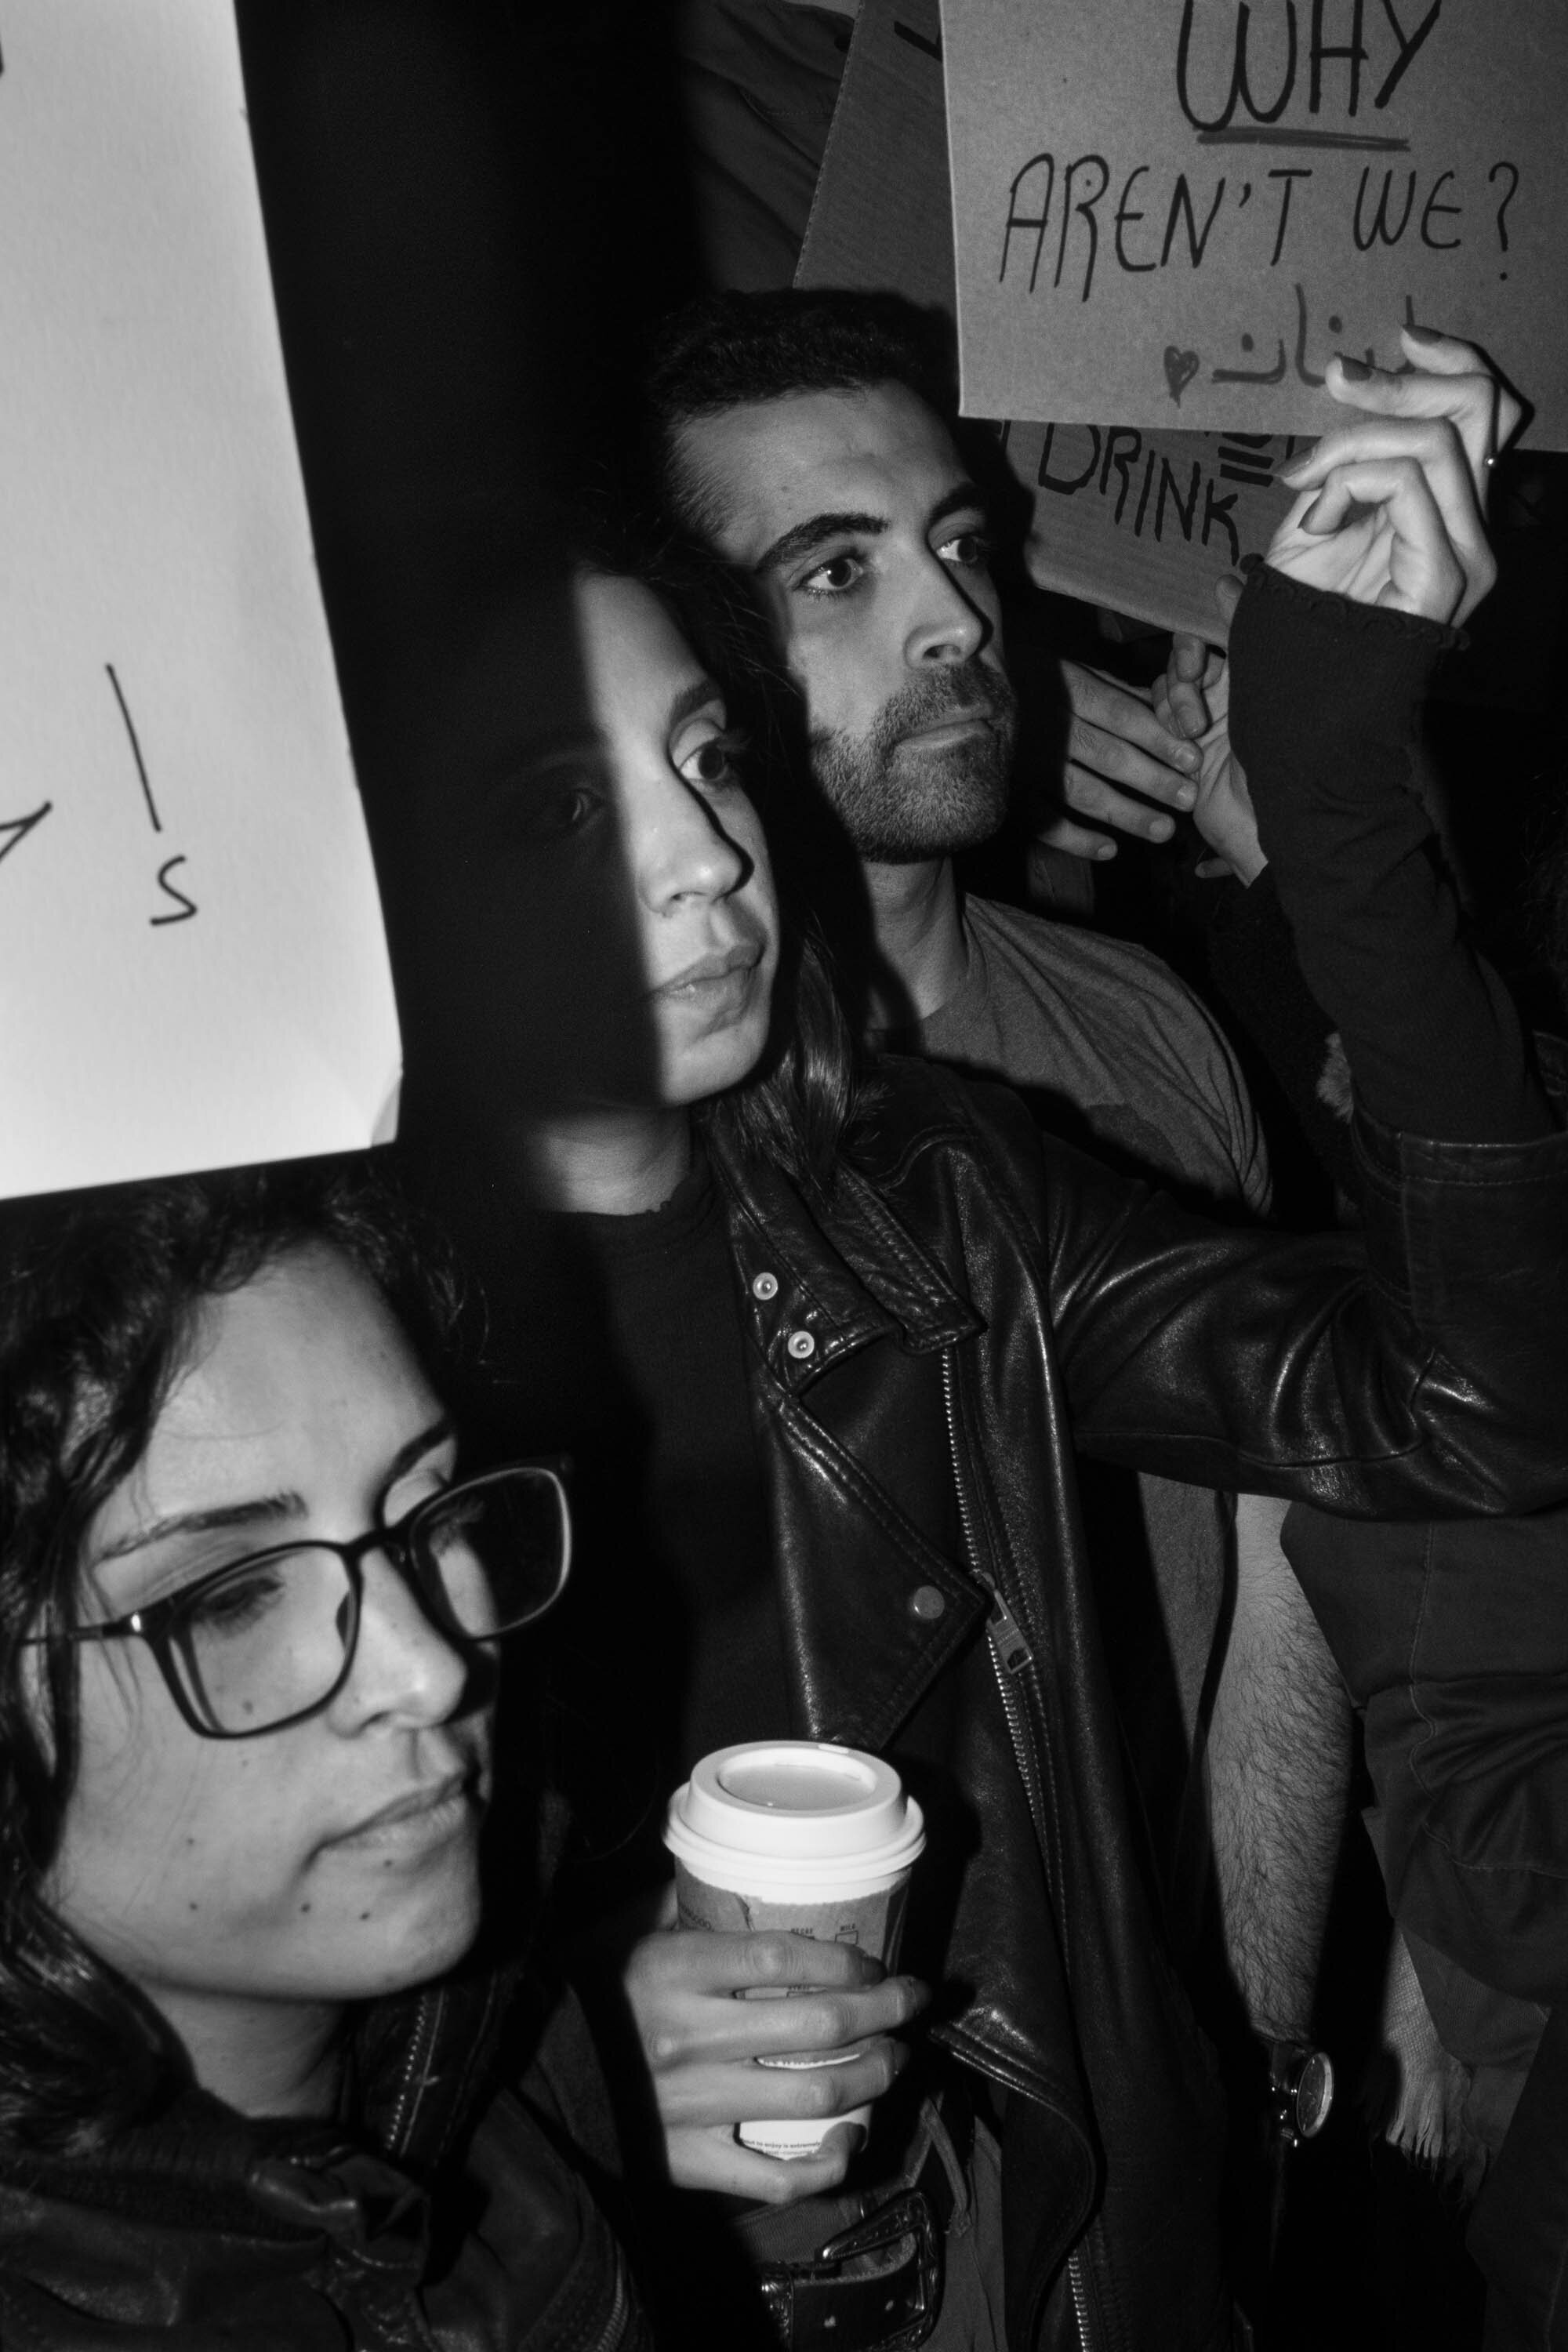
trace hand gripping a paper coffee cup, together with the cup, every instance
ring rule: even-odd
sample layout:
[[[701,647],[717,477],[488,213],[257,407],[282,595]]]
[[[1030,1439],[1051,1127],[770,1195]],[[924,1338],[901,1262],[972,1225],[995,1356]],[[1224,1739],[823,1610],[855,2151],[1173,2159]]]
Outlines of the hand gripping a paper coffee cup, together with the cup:
[[[884,1973],[919,1806],[877,1757],[750,1743],[677,1790],[668,1844],[686,1926],[637,1945],[625,1990],[670,2178],[773,2204],[835,2187],[907,2060],[889,2034],[926,2004],[914,1978]]]

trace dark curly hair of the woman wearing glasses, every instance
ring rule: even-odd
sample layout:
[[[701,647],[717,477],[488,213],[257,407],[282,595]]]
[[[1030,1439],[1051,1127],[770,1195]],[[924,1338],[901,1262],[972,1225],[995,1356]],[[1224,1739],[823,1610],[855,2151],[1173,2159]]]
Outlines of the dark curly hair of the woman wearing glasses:
[[[82,1541],[148,1449],[207,1298],[306,1247],[348,1256],[430,1348],[449,1282],[362,1167],[181,1176],[0,1211],[0,2143],[78,2152],[183,2079],[153,2006],[42,1893],[78,1769]]]

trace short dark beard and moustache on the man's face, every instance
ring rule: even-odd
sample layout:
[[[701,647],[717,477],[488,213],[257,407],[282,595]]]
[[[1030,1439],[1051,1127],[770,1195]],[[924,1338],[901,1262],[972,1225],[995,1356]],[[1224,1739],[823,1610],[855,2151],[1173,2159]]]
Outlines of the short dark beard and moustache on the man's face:
[[[983,713],[990,724],[959,743],[903,750],[910,729],[959,713]],[[1001,670],[966,661],[912,680],[863,736],[813,734],[811,774],[856,856],[875,866],[919,866],[973,849],[1001,828],[1016,731],[1018,701]]]

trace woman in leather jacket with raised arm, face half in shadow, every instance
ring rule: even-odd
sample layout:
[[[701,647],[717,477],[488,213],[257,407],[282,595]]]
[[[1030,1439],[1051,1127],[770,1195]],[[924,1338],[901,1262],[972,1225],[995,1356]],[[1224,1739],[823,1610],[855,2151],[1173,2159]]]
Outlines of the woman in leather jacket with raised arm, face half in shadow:
[[[1232,722],[1265,847],[1274,767],[1333,767],[1345,713],[1403,757],[1450,621],[1486,588],[1474,470],[1495,445],[1495,386],[1460,346],[1418,343],[1410,362],[1373,383],[1335,369],[1368,414],[1307,463],[1276,572],[1237,614]],[[658,1799],[726,1736],[886,1752],[933,1832],[898,1978],[797,1938],[679,1936],[646,1915],[623,1929],[621,2079],[649,2133],[635,2194],[672,2249],[672,2300],[684,2291],[686,2336],[705,2340],[691,2314],[712,2310],[743,2199],[736,2230],[788,2340],[806,2343],[839,2326],[820,2317],[823,2244],[912,2192],[945,2230],[947,2307],[933,2319],[914,2296],[886,2338],[835,2340],[1227,2345],[1218,2086],[1128,1818],[1072,1451],[1368,1517],[1554,1498],[1568,1468],[1547,1397],[1568,1367],[1542,1291],[1561,1138],[1533,1096],[1481,1145],[1425,1141],[1443,1129],[1420,1117],[1401,1131],[1387,1117],[1401,1042],[1387,1023],[1359,1030],[1349,1002],[1352,1065],[1373,1080],[1361,1247],[1211,1228],[1041,1141],[1004,1091],[929,1065],[886,1063],[856,1089],[816,955],[780,946],[712,666],[625,572],[588,569],[578,616],[597,755],[515,783],[505,821],[527,856],[498,856],[498,830],[463,840],[461,861],[447,844],[465,924],[451,985],[491,922],[512,957],[552,938],[569,988],[621,990],[621,1061],[562,1065],[555,1094],[531,1070],[524,1112],[491,1058],[489,1103],[465,1124],[451,1103],[425,1120],[425,1183],[498,1301],[524,1296],[529,1192],[559,1214],[583,1289],[562,1298],[545,1357],[531,1310],[520,1334],[491,1329],[491,1411],[534,1414],[545,1390],[562,1414],[583,1406],[595,1383],[574,1392],[574,1371],[597,1301],[611,1435],[642,1449],[654,1524],[670,1529],[663,1576],[637,1550],[616,1585],[607,1559],[576,1630],[628,1750],[646,1729],[654,1752],[644,1717],[668,1700],[665,1778],[588,1872],[599,1919],[611,1898],[656,1893]],[[1324,720],[1316,734],[1295,720],[1279,746],[1269,713],[1298,640]],[[517,659],[505,630],[489,659],[501,687]],[[451,797],[442,826],[461,826]],[[1300,840],[1279,856],[1281,894],[1302,861]],[[433,861],[430,938],[451,946],[440,889]],[[809,1011],[783,1025],[780,960]],[[505,997],[498,946],[491,971]],[[527,976],[512,990],[538,1035],[550,955]],[[625,1461],[616,1475],[607,1449],[607,1491]],[[933,2025],[905,2065],[896,2037],[929,1985]],[[780,1987],[797,1997],[736,2002]],[[785,2053],[823,2063],[757,2072]],[[938,2089],[957,2187],[945,2157],[929,2161]],[[867,2098],[865,2150],[830,2133],[823,2157],[785,2166],[733,2138],[743,2117]],[[976,2194],[983,2178],[999,2190]],[[762,2227],[785,2206],[792,2234]],[[992,2223],[1004,2265],[994,2246],[969,2263]],[[745,2340],[738,2321],[724,2340]]]

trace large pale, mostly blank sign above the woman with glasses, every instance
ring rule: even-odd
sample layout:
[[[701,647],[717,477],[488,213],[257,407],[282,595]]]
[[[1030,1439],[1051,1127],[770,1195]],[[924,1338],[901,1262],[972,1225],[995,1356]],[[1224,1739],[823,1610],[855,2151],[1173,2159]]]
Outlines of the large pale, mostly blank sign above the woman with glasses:
[[[369,1143],[397,1021],[214,0],[7,0],[0,421],[0,1192]]]

